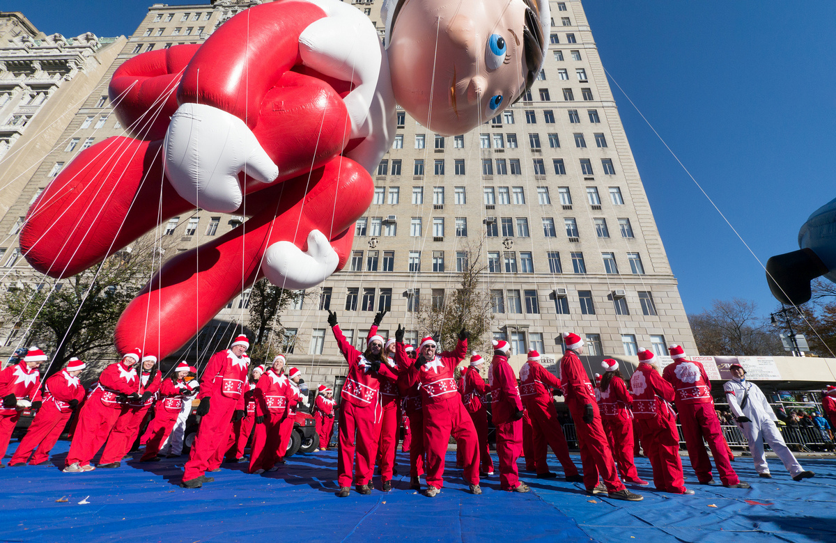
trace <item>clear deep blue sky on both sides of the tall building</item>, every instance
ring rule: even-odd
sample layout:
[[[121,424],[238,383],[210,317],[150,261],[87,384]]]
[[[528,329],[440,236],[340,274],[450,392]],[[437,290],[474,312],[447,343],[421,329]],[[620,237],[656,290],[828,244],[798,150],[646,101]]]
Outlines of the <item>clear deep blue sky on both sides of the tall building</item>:
[[[186,2],[169,2],[169,4]],[[39,29],[130,34],[150,2],[6,0]],[[752,251],[798,248],[836,196],[836,2],[586,0],[595,42],[624,92]],[[686,311],[742,297],[777,306],[764,272],[665,146],[613,88]]]

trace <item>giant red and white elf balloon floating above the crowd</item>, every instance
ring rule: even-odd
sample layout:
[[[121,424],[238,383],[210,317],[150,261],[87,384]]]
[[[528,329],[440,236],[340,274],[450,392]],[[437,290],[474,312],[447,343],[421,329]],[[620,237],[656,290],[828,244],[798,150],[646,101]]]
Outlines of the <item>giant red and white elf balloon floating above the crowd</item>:
[[[323,282],[349,258],[395,104],[440,134],[482,124],[530,88],[550,22],[548,0],[390,0],[383,16],[381,43],[348,4],[278,0],[201,45],[130,58],[110,81],[130,137],[82,151],[43,190],[26,259],[69,277],[171,217],[246,216],[166,261],[120,317],[116,348],[159,358],[260,277]]]

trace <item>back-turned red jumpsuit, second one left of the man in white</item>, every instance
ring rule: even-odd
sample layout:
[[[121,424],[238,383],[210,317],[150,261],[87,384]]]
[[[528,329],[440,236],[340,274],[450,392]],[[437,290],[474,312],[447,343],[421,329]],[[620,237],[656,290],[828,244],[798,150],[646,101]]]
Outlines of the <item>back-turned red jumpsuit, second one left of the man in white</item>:
[[[676,416],[668,404],[674,399],[673,387],[649,363],[640,362],[630,378],[630,388],[635,424],[653,467],[656,490],[685,493]]]

